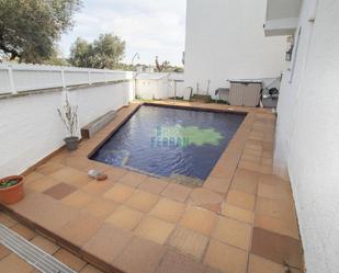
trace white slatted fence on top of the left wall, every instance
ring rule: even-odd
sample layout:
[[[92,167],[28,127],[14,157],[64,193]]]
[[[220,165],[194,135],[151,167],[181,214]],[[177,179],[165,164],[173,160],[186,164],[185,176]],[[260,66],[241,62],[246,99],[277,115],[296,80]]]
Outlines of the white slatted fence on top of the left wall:
[[[75,67],[0,64],[0,94],[132,80],[134,72]]]

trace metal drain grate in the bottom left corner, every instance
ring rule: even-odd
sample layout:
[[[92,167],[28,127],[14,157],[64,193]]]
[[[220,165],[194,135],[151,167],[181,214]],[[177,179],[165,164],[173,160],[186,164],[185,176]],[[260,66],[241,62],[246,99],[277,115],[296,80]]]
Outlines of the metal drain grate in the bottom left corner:
[[[0,243],[43,273],[76,273],[53,255],[0,224]]]

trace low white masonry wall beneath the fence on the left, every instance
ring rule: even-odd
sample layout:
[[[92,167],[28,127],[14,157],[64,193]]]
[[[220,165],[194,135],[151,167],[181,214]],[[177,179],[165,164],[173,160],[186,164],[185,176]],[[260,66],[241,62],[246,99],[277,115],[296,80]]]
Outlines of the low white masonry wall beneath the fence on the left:
[[[69,91],[79,106],[79,128],[133,98],[133,83],[92,86]],[[18,174],[64,145],[67,136],[57,107],[64,94],[45,92],[0,100],[0,177]]]

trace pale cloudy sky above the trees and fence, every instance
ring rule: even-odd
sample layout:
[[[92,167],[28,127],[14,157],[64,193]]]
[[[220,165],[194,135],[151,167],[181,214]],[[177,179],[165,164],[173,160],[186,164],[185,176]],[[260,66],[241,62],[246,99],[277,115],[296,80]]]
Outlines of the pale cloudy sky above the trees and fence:
[[[77,37],[88,42],[99,34],[113,33],[126,42],[124,61],[154,64],[169,60],[181,66],[185,34],[185,0],[83,0],[75,26],[61,36],[59,47],[69,56]]]

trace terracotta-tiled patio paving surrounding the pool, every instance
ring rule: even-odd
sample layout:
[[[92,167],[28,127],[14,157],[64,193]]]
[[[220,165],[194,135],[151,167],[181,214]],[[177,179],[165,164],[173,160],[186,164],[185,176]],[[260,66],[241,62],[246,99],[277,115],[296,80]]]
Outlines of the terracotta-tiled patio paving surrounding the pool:
[[[284,273],[289,264],[301,273],[291,185],[273,168],[275,115],[176,104],[248,113],[202,187],[87,159],[136,110],[133,103],[77,151],[63,149],[27,173],[25,198],[3,209],[105,272]],[[88,178],[92,168],[109,179]]]

